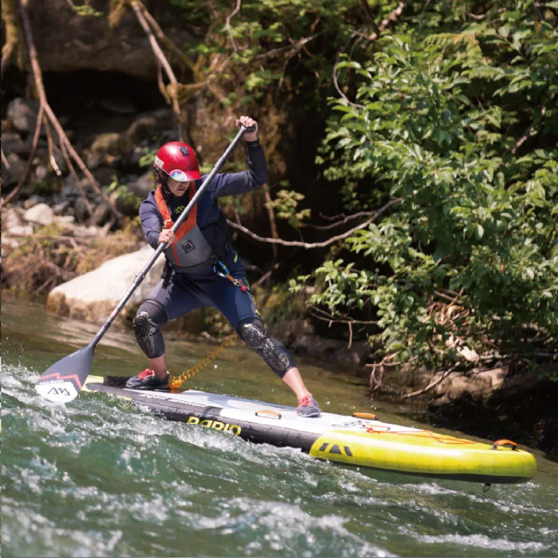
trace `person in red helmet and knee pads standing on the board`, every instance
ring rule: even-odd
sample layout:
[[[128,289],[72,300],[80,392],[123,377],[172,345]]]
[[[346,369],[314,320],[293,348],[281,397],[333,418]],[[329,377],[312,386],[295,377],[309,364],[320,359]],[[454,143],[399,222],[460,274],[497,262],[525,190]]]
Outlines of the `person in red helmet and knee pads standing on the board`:
[[[165,243],[165,271],[133,320],[138,344],[151,364],[128,379],[132,389],[165,389],[169,372],[165,342],[160,327],[194,308],[213,306],[269,368],[296,394],[299,416],[319,416],[316,400],[303,382],[287,349],[267,333],[256,309],[246,271],[231,245],[227,220],[218,197],[256,190],[268,180],[266,158],[257,137],[257,122],[249,116],[236,120],[236,127],[254,126],[246,132],[248,170],[217,174],[199,197],[188,218],[176,231],[170,230],[204,181],[195,151],[182,142],[169,142],[157,152],[153,176],[156,190],[140,206],[146,241],[157,248]]]

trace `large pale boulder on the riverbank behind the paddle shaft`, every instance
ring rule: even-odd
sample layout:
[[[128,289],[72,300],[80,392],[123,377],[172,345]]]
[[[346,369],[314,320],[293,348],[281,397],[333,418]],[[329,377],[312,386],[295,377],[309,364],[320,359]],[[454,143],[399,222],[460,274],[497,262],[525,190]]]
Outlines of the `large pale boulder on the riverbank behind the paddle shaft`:
[[[144,246],[141,250],[111,259],[98,269],[55,287],[48,295],[47,311],[88,322],[105,322],[132,285],[136,273],[152,254],[153,248]],[[135,314],[137,306],[160,280],[164,263],[163,257],[155,262],[121,310],[119,321]]]

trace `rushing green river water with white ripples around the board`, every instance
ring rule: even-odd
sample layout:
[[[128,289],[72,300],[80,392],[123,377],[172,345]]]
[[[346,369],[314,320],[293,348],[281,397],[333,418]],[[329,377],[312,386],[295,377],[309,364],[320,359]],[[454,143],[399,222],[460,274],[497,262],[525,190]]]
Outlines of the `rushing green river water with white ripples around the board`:
[[[98,327],[2,301],[3,557],[558,556],[558,465],[533,451],[534,481],[437,481],[332,465],[82,393],[67,405],[34,382]],[[167,342],[174,372],[215,349]],[[331,412],[370,412],[365,379],[298,359]],[[128,331],[109,331],[92,374],[145,368]],[[294,405],[244,347],[184,384]],[[393,409],[384,421],[406,425]]]

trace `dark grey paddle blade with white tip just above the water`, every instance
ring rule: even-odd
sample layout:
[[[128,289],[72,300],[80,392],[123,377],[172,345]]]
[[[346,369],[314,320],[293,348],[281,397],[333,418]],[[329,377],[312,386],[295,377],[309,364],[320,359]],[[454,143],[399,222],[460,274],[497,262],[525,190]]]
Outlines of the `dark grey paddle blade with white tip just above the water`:
[[[53,364],[37,380],[35,389],[51,401],[67,403],[77,397],[89,375],[94,345],[87,345]]]

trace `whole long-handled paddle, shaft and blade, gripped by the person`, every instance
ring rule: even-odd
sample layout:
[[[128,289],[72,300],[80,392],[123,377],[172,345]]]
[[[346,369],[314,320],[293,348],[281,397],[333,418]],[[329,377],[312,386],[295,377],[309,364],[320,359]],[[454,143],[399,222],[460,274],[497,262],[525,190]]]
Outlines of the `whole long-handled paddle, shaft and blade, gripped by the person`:
[[[241,126],[239,133],[236,134],[234,140],[232,140],[225,153],[223,153],[223,156],[221,156],[220,159],[217,161],[215,167],[213,167],[209,175],[206,177],[202,186],[199,187],[194,197],[190,199],[190,203],[181,213],[181,216],[176,220],[176,223],[174,223],[174,226],[171,229],[172,232],[176,232],[179,229],[180,225],[184,222],[184,220],[186,220],[186,218],[188,217],[188,213],[190,213],[193,206],[197,204],[199,197],[202,195],[209,183],[213,180],[215,175],[219,172],[220,168],[223,167],[223,165],[225,164],[225,160],[232,153],[232,150],[239,142],[241,137],[246,132],[253,132],[254,130],[255,128],[253,126],[250,128]],[[97,335],[95,335],[89,345],[87,345],[83,349],[79,349],[76,352],[73,352],[72,354],[69,354],[68,356],[65,356],[63,359],[48,368],[48,370],[43,372],[43,374],[37,380],[35,386],[40,395],[43,395],[43,397],[51,401],[62,403],[66,403],[77,397],[83,387],[83,384],[85,383],[86,377],[89,375],[91,361],[93,361],[93,352],[95,352],[97,343],[101,340],[103,335],[105,335],[107,329],[110,328],[116,316],[119,315],[120,310],[128,302],[130,296],[132,296],[138,285],[140,285],[140,283],[144,280],[147,272],[151,269],[153,264],[156,262],[156,259],[161,255],[165,248],[166,244],[161,243],[157,247],[155,252],[153,252],[153,255],[149,258],[149,262],[144,265],[140,273],[137,273],[132,285],[128,289],[128,292],[126,292],[116,308],[112,310],[112,314],[110,315],[109,319],[107,319],[105,324],[103,324],[103,327],[97,332]]]

